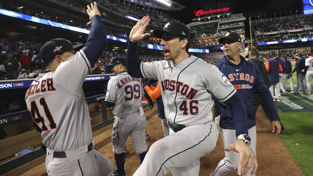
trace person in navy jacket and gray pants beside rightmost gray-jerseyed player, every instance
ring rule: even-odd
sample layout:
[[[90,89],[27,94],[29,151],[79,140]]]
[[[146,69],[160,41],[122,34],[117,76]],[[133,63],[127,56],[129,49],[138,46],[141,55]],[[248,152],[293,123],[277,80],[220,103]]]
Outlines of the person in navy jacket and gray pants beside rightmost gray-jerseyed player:
[[[291,72],[291,74],[295,73],[295,71],[297,72],[297,78],[298,78],[297,81],[298,81],[300,86],[298,86],[298,84],[297,84],[296,91],[300,91],[299,87],[301,87],[302,91],[299,92],[299,93],[305,93],[305,85],[306,85],[305,72],[304,72],[304,69],[305,69],[305,58],[303,58],[303,55],[301,53],[297,53],[295,55],[295,58],[297,59],[297,61],[295,63],[295,68]]]

